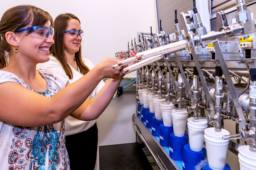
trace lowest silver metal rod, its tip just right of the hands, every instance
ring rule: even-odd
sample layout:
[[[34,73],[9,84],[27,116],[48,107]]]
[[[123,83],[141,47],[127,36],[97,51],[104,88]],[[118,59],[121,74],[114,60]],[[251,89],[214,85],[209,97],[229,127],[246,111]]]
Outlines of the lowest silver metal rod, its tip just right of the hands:
[[[124,68],[124,74],[131,73],[131,72],[137,70],[138,68],[146,66],[146,65],[148,65],[152,62],[155,62],[157,60],[160,60],[161,58],[162,58],[161,55],[156,55],[156,56],[150,57],[148,59],[145,59],[143,61],[140,61],[138,63],[135,63],[132,66]]]

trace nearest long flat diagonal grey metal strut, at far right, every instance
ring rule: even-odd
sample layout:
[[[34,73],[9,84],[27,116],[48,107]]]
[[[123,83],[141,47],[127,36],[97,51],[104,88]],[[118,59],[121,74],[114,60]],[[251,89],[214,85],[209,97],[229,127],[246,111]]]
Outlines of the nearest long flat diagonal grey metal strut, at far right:
[[[230,73],[228,71],[228,66],[227,66],[227,64],[226,64],[226,62],[223,58],[223,53],[220,49],[219,41],[213,42],[213,46],[214,46],[214,49],[215,49],[215,52],[216,52],[216,55],[217,55],[217,59],[219,60],[219,63],[220,63],[220,67],[223,71],[226,82],[228,84],[230,95],[233,99],[234,105],[236,106],[236,111],[237,111],[238,117],[240,119],[239,120],[239,131],[246,130],[246,120],[245,120],[245,117],[244,117],[244,111],[243,111],[241,103],[239,102],[239,99],[236,95],[236,89],[235,89],[234,83],[231,79]]]

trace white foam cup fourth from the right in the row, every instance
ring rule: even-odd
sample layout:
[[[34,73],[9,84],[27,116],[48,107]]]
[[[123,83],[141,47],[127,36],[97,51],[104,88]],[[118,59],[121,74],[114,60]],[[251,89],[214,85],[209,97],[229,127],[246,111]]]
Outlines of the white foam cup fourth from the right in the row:
[[[182,137],[185,134],[188,119],[187,110],[172,109],[173,132],[175,136]]]

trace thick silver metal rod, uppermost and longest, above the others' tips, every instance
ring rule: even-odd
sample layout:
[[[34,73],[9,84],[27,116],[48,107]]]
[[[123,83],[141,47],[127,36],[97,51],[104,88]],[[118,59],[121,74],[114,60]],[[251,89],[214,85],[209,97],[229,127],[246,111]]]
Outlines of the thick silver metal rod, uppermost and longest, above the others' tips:
[[[165,46],[156,47],[147,51],[137,53],[136,59],[141,60],[141,59],[146,59],[159,54],[173,53],[181,49],[187,48],[189,46],[188,43],[189,41],[186,39],[186,40],[174,42]]]

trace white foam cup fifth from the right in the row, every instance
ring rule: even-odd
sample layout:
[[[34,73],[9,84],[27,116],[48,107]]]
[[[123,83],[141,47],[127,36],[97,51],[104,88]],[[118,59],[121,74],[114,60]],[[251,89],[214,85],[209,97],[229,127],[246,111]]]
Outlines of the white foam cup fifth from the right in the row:
[[[172,126],[172,109],[174,109],[174,105],[172,103],[161,103],[160,109],[164,126]]]

